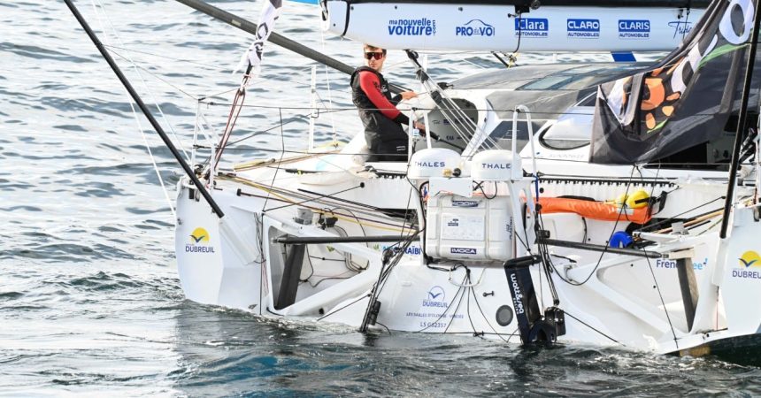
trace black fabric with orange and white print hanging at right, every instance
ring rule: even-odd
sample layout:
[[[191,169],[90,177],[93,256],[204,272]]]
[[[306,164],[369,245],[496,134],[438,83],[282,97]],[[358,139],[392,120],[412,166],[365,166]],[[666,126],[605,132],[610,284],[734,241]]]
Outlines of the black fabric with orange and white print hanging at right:
[[[739,108],[755,7],[714,1],[655,67],[599,86],[590,161],[646,163],[718,137]]]

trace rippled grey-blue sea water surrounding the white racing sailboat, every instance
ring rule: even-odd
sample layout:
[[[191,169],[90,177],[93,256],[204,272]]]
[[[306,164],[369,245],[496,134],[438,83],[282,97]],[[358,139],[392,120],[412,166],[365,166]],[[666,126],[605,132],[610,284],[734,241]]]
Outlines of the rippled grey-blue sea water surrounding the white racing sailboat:
[[[189,149],[199,97],[214,98],[201,110],[223,126],[248,34],[169,0],[76,4],[175,142]],[[261,6],[214,4],[253,20]],[[323,38],[314,7],[286,6],[281,34],[360,61],[356,43]],[[273,45],[265,51],[233,161],[304,147],[313,64]],[[417,87],[404,54],[392,51],[387,66],[390,80]],[[430,58],[438,80],[495,66],[473,54]],[[333,110],[320,116],[318,141],[334,131],[345,140],[359,126],[348,79],[318,71],[320,103]],[[63,2],[0,2],[0,395],[761,394],[761,370],[711,357],[364,335],[188,302],[159,184],[173,195],[181,169],[156,134],[141,133],[148,126]]]

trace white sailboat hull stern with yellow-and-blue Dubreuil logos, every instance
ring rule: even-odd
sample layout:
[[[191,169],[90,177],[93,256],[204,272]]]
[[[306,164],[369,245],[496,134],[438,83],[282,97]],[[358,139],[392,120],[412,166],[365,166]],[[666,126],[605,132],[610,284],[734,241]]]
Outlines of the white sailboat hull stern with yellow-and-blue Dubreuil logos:
[[[262,177],[268,172],[271,171],[260,171],[258,175]],[[307,180],[305,183],[292,181],[290,188],[328,193],[340,191],[342,186],[348,187],[363,179],[360,175],[350,176],[349,173],[343,178],[344,183],[337,187],[320,187]],[[394,189],[396,196],[401,197],[408,195],[410,189],[409,183],[402,179],[366,179],[365,183],[371,190],[374,189],[373,184],[385,185],[383,189],[390,196],[384,199],[390,201],[398,200],[393,197]],[[563,190],[572,192],[577,185],[555,183],[552,189],[556,194],[562,194]],[[273,238],[286,233],[295,237],[330,236],[335,233],[315,225],[296,223],[293,219],[296,206],[267,211],[262,216],[265,200],[268,201],[268,209],[277,206],[273,205],[276,197],[271,195],[271,199],[265,199],[266,194],[261,189],[229,180],[217,180],[217,187],[213,190],[214,199],[227,213],[222,221],[211,213],[203,199],[190,198],[190,188],[180,187],[177,209],[180,222],[176,239],[181,283],[188,299],[267,316],[311,318],[352,326],[362,323],[368,295],[382,267],[382,243],[374,247],[365,243],[336,243],[331,244],[330,249],[326,249],[325,245],[308,245],[313,275],[341,275],[345,279],[326,279],[317,287],[311,285],[319,278],[302,281],[295,302],[279,307],[278,292],[286,257],[281,253],[282,246],[272,243]],[[597,189],[618,189],[615,185],[610,187],[601,184]],[[682,191],[684,195],[681,197],[688,198],[711,195],[706,193],[720,191],[721,187],[725,187],[724,183],[715,183],[713,187],[711,184],[685,184],[676,192]],[[236,195],[239,188],[243,193],[261,194],[263,197]],[[660,189],[663,188],[656,188],[656,194]],[[672,200],[677,202],[678,197],[674,196]],[[312,205],[319,208],[325,203],[315,201]],[[599,253],[553,249],[553,253],[559,255],[555,258],[557,270],[565,279],[580,283],[589,277],[588,282],[573,286],[557,279],[557,274],[553,276],[559,307],[566,313],[566,333],[558,341],[669,353],[704,347],[711,341],[758,333],[761,310],[747,303],[761,300],[761,289],[757,288],[757,284],[761,283],[761,272],[754,271],[756,268],[752,266],[742,266],[738,260],[749,256],[749,251],[759,250],[756,236],[761,233],[761,223],[754,220],[754,211],[753,208],[735,210],[730,239],[724,241],[719,240],[715,223],[693,231],[694,235],[663,233],[651,237],[662,242],[649,248],[650,251],[675,253],[682,249],[691,250],[689,261],[693,264],[699,297],[691,328],[688,327],[675,260],[609,253],[597,264]],[[565,236],[561,237],[578,239],[579,231],[573,230],[577,224],[564,217],[545,216],[544,222],[547,225],[554,218],[558,226],[565,223],[565,232],[560,232]],[[373,222],[381,219],[385,218],[379,216]],[[346,226],[342,221],[337,226],[342,224]],[[380,226],[377,223],[373,225]],[[610,226],[605,222],[588,220],[588,240],[604,240],[605,234],[610,233]],[[209,241],[196,243],[199,236],[195,239],[190,236],[194,231],[197,235],[196,228],[199,227],[208,233]],[[356,226],[346,226],[346,229],[350,234],[361,233]],[[365,233],[380,235],[388,234],[388,231],[371,226],[365,229]],[[261,243],[257,243],[258,239]],[[259,244],[261,252],[258,250]],[[388,275],[378,295],[381,305],[377,325],[411,333],[484,335],[518,344],[520,338],[516,320],[502,326],[497,324],[495,318],[496,311],[502,306],[509,306],[515,313],[502,264],[464,262],[470,271],[469,279],[465,279],[464,267],[450,272],[428,268],[419,254],[421,245],[422,241],[416,241],[408,250],[409,255],[404,256]],[[319,260],[318,257],[331,256],[330,253],[334,256],[333,261]],[[336,256],[336,253],[340,255]],[[349,253],[357,263],[366,264],[364,272],[345,273],[342,261],[335,264],[336,259],[342,260]],[[560,256],[576,256],[578,264],[570,264]],[[262,259],[265,261],[262,262]],[[437,266],[448,269],[455,263],[442,261]],[[304,264],[307,264],[306,260]],[[309,273],[304,269],[299,279],[304,280]],[[550,286],[538,264],[531,267],[531,274],[539,308],[543,310],[552,305]]]

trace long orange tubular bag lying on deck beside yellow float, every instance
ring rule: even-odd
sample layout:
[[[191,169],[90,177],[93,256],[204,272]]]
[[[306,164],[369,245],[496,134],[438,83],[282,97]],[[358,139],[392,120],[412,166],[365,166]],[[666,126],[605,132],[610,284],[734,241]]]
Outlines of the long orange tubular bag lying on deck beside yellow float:
[[[542,210],[540,210],[542,214],[576,213],[585,218],[603,221],[631,221],[637,224],[644,224],[652,218],[649,206],[640,209],[625,208],[621,210],[615,204],[561,197],[540,197],[539,204],[542,206]]]

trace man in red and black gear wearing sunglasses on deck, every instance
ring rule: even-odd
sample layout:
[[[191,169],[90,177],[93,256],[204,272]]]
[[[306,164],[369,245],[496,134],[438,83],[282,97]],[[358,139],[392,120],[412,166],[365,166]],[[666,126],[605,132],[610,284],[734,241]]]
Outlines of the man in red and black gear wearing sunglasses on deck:
[[[367,160],[406,162],[408,138],[402,125],[409,126],[410,119],[396,109],[396,103],[418,95],[414,91],[404,91],[392,98],[388,81],[380,74],[386,61],[386,50],[370,44],[365,44],[363,50],[365,66],[358,67],[351,74],[351,99],[365,125],[365,142],[371,153]],[[415,122],[415,127],[425,130],[419,122]]]

